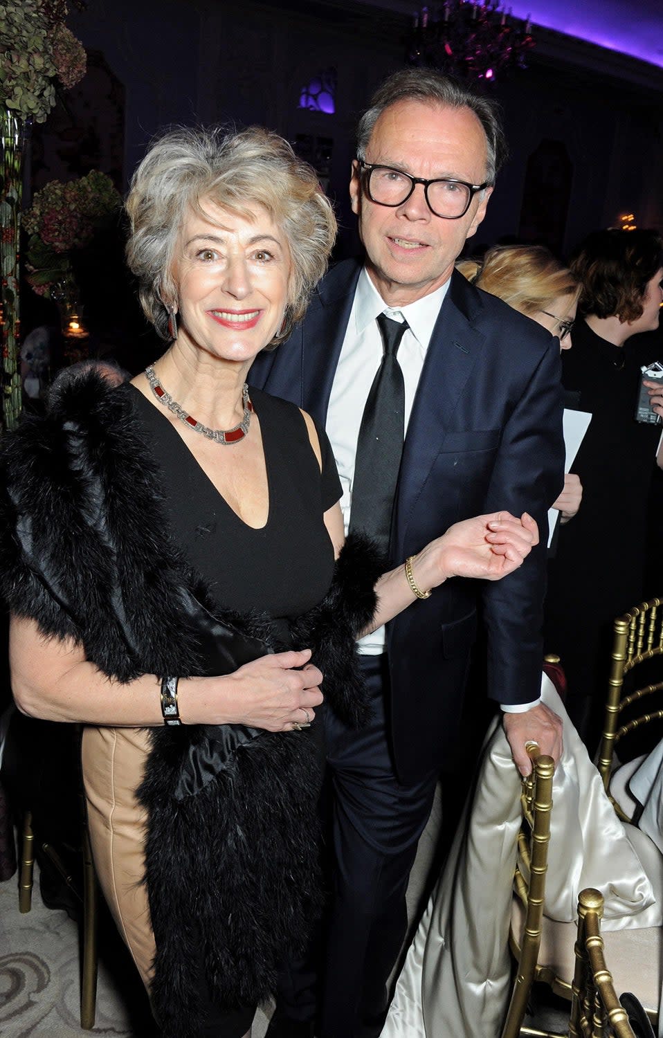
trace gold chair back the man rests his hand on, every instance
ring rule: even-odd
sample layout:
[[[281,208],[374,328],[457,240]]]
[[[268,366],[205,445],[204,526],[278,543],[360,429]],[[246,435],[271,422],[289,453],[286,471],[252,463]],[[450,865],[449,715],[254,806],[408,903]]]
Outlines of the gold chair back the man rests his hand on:
[[[555,764],[552,757],[540,754],[535,743],[528,743],[527,752],[532,759],[532,770],[523,778],[523,820],[518,834],[519,862],[514,877],[516,896],[525,906],[525,923],[522,935],[510,941],[518,966],[501,1038],[518,1038],[520,1034],[543,930]]]

